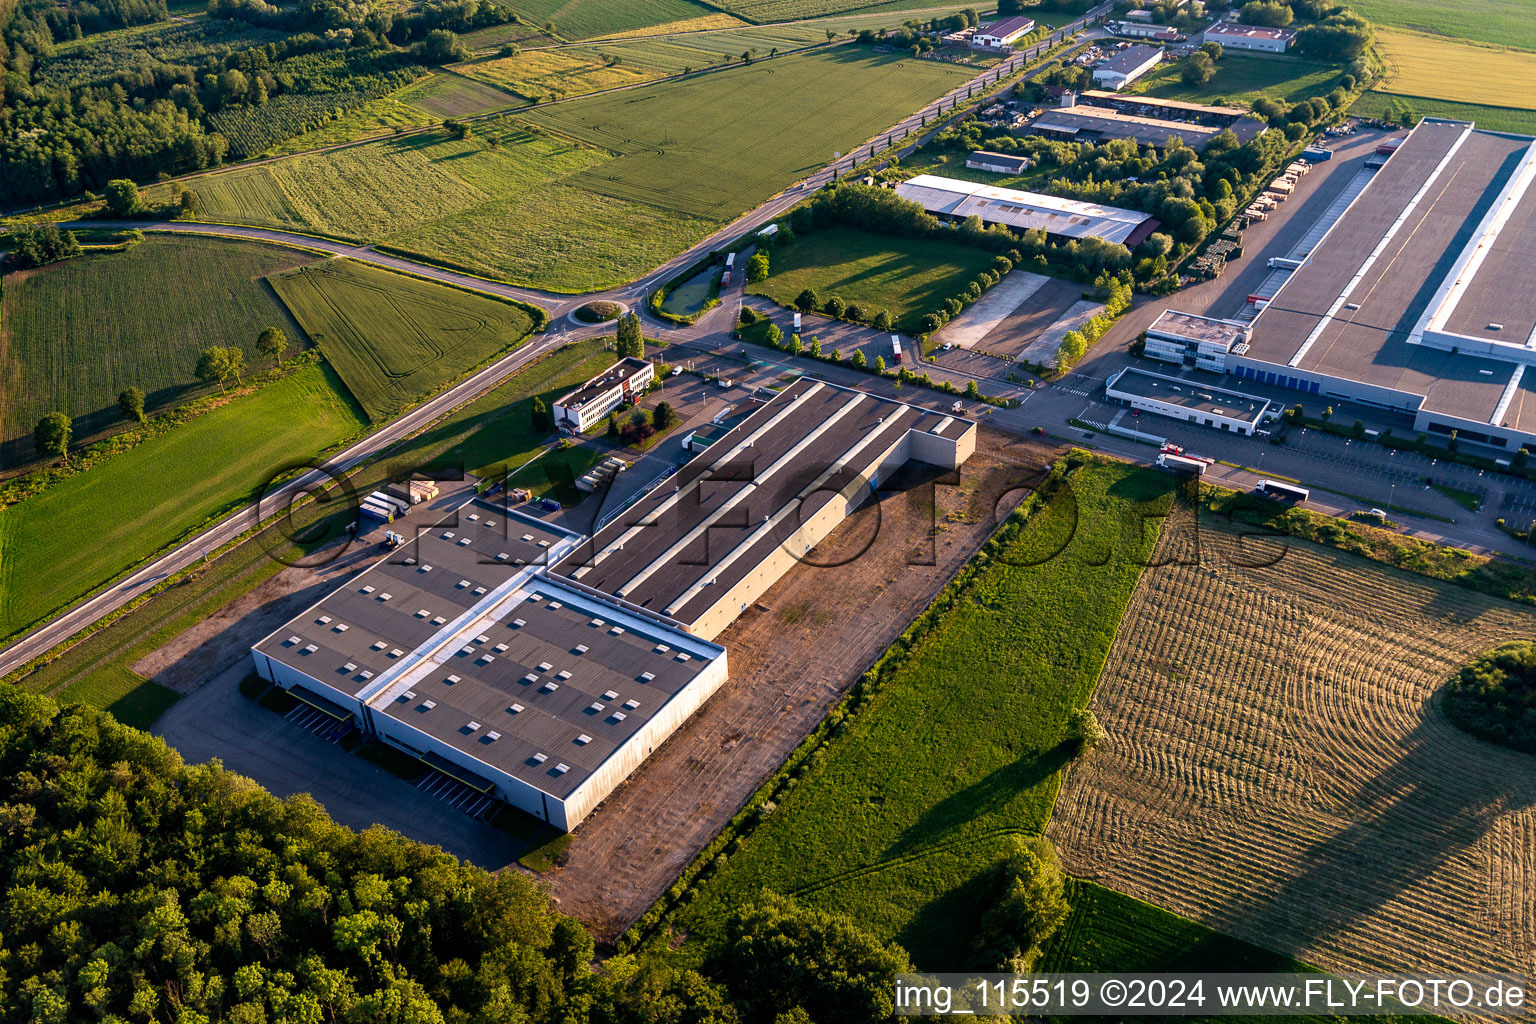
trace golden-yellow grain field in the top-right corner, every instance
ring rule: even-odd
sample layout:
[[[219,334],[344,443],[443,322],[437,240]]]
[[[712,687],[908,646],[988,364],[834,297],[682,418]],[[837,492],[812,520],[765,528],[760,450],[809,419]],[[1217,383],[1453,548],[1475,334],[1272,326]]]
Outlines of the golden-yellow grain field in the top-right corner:
[[[1536,111],[1536,52],[1389,31],[1376,32],[1376,52],[1387,71],[1375,92]]]

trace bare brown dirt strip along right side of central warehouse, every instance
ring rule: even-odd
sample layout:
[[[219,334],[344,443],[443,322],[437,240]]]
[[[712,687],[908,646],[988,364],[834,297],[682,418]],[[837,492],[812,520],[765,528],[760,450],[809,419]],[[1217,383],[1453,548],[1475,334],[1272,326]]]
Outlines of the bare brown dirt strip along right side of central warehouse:
[[[793,570],[717,637],[731,680],[578,827],[547,877],[561,909],[601,938],[644,913],[1023,497],[1005,481],[1051,456],[983,431],[960,487],[908,479],[813,553],[845,565]]]

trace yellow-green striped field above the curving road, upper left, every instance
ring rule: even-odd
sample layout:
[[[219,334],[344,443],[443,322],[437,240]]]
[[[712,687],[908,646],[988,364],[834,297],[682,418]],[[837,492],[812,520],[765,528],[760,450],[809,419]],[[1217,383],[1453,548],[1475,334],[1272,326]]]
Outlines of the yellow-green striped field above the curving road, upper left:
[[[570,175],[608,163],[607,152],[510,118],[475,130],[465,140],[425,132],[304,154],[192,187],[206,220],[389,243],[564,292],[637,278],[716,227],[571,187]]]

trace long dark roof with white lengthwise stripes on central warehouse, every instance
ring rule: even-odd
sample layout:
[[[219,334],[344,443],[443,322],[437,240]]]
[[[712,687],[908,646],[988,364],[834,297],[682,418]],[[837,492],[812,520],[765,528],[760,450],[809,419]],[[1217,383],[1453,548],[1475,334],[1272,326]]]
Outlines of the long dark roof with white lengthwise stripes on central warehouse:
[[[909,430],[972,425],[802,378],[550,571],[693,622]]]

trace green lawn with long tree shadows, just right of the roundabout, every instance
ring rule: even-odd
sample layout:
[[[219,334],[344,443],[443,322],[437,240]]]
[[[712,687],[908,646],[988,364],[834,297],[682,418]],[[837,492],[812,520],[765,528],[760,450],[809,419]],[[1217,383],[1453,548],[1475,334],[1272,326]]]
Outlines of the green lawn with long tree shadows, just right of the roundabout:
[[[746,286],[780,306],[794,306],[803,289],[825,301],[839,296],[865,309],[889,310],[897,330],[917,333],[923,313],[975,279],[992,255],[929,238],[872,235],[829,227],[768,250],[768,279]]]

